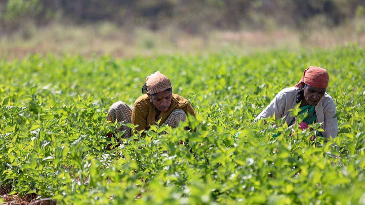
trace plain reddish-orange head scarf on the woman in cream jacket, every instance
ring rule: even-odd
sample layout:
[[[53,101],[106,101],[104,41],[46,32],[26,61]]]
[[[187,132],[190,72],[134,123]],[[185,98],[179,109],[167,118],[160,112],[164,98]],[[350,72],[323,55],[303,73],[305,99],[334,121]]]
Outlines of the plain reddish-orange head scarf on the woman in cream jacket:
[[[315,87],[315,88],[327,88],[328,81],[330,77],[328,76],[327,70],[321,67],[309,66],[306,70],[304,70],[303,77],[301,77],[296,87],[301,85],[301,82],[305,84]]]

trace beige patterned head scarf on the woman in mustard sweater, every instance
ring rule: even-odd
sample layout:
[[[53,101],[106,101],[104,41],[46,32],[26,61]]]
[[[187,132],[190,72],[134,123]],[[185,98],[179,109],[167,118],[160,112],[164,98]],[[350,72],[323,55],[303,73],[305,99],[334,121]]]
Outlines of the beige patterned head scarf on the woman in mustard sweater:
[[[146,86],[148,93],[155,94],[171,88],[171,82],[168,77],[157,71],[146,78]]]

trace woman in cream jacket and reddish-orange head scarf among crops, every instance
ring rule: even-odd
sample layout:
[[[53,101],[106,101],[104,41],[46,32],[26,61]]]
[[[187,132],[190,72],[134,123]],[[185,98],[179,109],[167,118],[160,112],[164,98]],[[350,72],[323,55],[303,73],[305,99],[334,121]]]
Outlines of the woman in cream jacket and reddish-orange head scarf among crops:
[[[298,103],[300,113],[306,113],[305,119],[299,127],[305,129],[312,123],[323,123],[320,132],[326,138],[337,137],[338,123],[335,103],[331,96],[326,93],[328,87],[327,70],[310,66],[304,70],[303,77],[294,87],[281,90],[270,104],[256,117],[256,120],[272,117],[275,120],[285,117],[285,122],[290,126],[295,119],[290,116],[288,110],[293,109]]]

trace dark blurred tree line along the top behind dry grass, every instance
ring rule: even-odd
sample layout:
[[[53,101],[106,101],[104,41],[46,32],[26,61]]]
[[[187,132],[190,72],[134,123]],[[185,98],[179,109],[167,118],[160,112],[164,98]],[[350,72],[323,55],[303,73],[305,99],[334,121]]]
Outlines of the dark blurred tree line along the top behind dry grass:
[[[0,0],[0,29],[8,33],[29,23],[108,21],[151,30],[173,25],[196,33],[261,28],[268,21],[300,28],[318,15],[326,19],[325,26],[337,26],[364,15],[364,7],[364,0]]]

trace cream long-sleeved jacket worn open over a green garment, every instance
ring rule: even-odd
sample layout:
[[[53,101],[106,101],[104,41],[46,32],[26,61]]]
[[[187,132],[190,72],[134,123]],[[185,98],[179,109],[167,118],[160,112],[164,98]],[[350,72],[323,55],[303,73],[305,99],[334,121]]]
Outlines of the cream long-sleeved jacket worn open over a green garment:
[[[296,87],[285,88],[281,90],[275,98],[270,102],[268,107],[266,107],[260,115],[256,117],[256,120],[265,119],[267,117],[272,117],[275,113],[275,120],[285,117],[285,121],[289,125],[293,119],[288,112],[289,109],[293,109],[296,103]],[[315,106],[317,123],[322,123],[320,128],[324,129],[322,136],[329,138],[337,137],[338,124],[337,117],[333,118],[336,114],[336,106],[332,97],[327,93],[324,94],[322,99]]]

